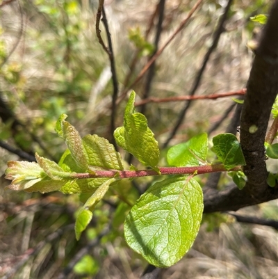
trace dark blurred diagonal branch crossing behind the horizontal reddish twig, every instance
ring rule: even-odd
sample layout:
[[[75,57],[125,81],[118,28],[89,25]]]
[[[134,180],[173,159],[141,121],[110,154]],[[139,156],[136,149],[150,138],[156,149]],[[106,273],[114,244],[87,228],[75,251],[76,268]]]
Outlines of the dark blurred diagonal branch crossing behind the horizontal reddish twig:
[[[215,33],[213,35],[213,37],[214,37],[213,38],[213,43],[212,43],[211,47],[208,49],[208,51],[206,52],[206,55],[204,56],[202,67],[199,69],[199,72],[197,73],[197,76],[196,76],[195,81],[193,83],[193,87],[190,90],[190,93],[188,94],[189,96],[195,95],[195,92],[196,92],[197,88],[199,87],[199,83],[200,83],[200,81],[202,79],[202,75],[204,73],[204,70],[206,69],[206,64],[208,63],[208,60],[211,57],[211,54],[213,53],[213,51],[218,46],[220,35],[225,30],[224,29],[224,22],[227,20],[229,8],[231,6],[232,1],[233,0],[229,0],[228,3],[227,3],[226,8],[224,9],[224,13],[222,15],[222,18],[220,19],[218,28],[216,29],[216,31],[215,31]],[[183,110],[179,114],[179,118],[178,118],[178,120],[176,122],[176,125],[174,125],[174,128],[172,129],[172,132],[170,133],[170,136],[167,138],[167,140],[163,144],[163,148],[167,147],[168,143],[170,143],[171,139],[177,133],[179,127],[181,126],[181,123],[183,122],[183,119],[186,117],[186,112],[188,111],[188,109],[190,107],[190,104],[191,104],[191,101],[188,101],[186,106],[183,108]]]

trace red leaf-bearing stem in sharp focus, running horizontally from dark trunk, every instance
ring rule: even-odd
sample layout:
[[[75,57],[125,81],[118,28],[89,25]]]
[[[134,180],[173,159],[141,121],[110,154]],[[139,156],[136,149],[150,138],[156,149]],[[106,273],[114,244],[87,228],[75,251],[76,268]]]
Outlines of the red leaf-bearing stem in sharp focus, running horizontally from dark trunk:
[[[158,169],[160,173],[156,172],[156,170],[95,170],[94,173],[74,173],[74,175],[71,175],[71,177],[74,179],[88,179],[99,177],[132,178],[151,175],[202,175],[204,173],[228,171],[222,164],[193,167],[160,167]],[[236,166],[229,171],[238,171],[240,169],[241,166]]]

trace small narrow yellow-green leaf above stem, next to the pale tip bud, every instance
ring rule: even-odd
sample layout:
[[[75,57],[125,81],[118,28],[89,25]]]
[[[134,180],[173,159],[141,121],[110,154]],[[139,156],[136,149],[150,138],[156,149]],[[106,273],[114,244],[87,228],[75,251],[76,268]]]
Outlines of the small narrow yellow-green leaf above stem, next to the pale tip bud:
[[[35,159],[44,172],[53,180],[63,180],[65,178],[70,178],[72,175],[72,173],[66,173],[63,168],[60,168],[54,161],[40,157],[38,153],[35,153]]]

